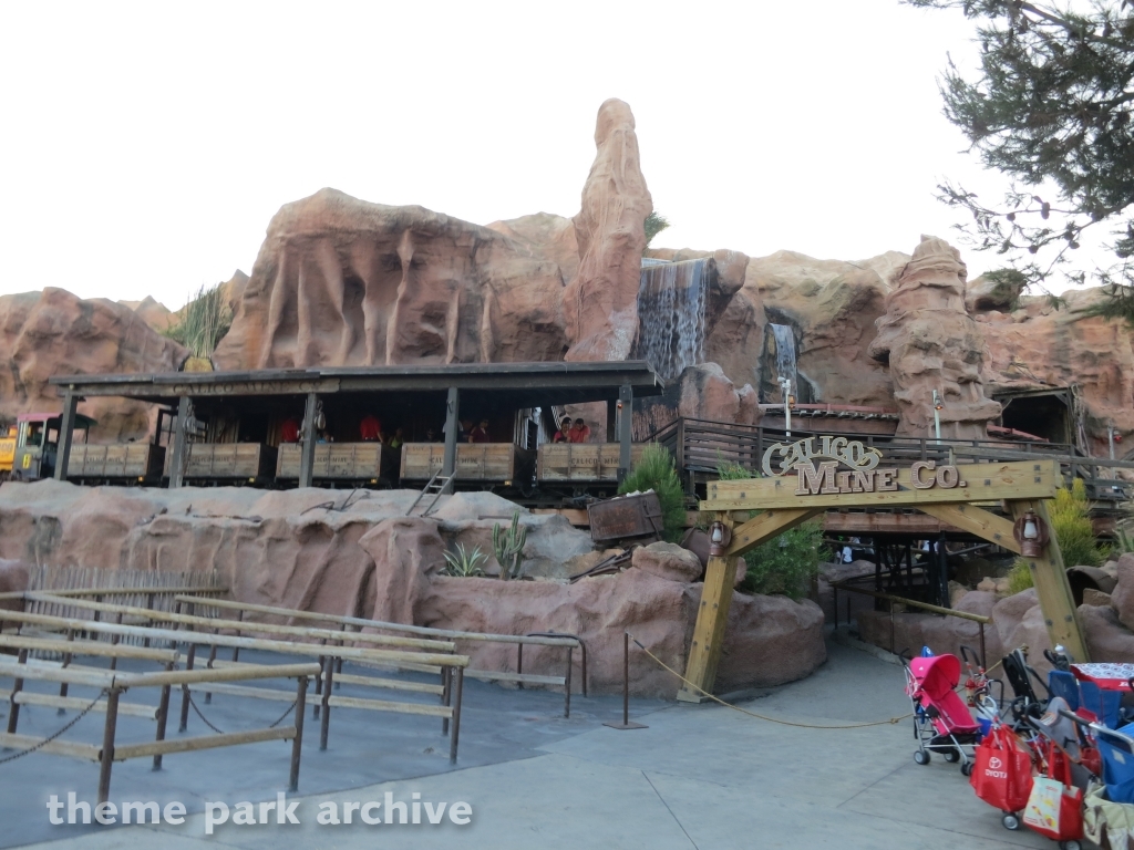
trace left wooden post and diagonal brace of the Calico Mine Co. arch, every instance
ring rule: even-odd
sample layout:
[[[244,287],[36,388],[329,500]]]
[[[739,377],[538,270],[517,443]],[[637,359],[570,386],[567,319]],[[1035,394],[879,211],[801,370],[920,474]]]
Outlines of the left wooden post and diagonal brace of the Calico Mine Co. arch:
[[[705,580],[701,588],[701,604],[697,622],[693,629],[693,644],[685,665],[685,678],[703,690],[712,692],[717,680],[717,665],[725,644],[725,627],[728,624],[728,609],[733,604],[733,585],[736,578],[736,558],[750,549],[759,546],[776,535],[795,528],[820,511],[807,508],[770,510],[751,519],[733,532],[733,543],[728,554],[709,559]],[[726,525],[733,520],[727,513],[718,513]],[[684,703],[700,703],[705,699],[688,685],[677,691]]]

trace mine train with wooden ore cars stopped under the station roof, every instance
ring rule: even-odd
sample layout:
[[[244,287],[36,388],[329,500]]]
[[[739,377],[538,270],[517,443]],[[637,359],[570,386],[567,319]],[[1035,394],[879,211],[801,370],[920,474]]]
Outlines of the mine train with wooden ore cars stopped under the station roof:
[[[169,411],[159,411],[154,435],[145,442],[110,444],[88,442],[94,419],[76,416],[67,481],[76,484],[164,486],[170,479]],[[339,431],[356,435],[359,423],[345,423]],[[523,419],[521,422],[521,419]],[[0,437],[0,475],[14,481],[37,481],[54,474],[61,415],[23,414],[15,427]],[[288,420],[270,428],[274,444],[264,442],[206,442],[206,423],[195,423],[186,449],[183,481],[197,486],[294,487],[299,479],[302,443]],[[365,427],[365,426],[363,426]],[[494,428],[498,431],[499,428]],[[517,432],[536,439],[530,414],[517,415]],[[403,431],[403,428],[397,428]],[[429,434],[432,436],[432,434]],[[290,437],[290,440],[288,440]],[[270,437],[271,439],[271,437]],[[441,442],[403,442],[393,433],[369,440],[338,441],[321,430],[315,444],[313,479],[324,487],[421,488],[443,464]],[[632,462],[642,444],[632,449]],[[561,500],[583,495],[613,495],[618,482],[618,443],[545,442],[527,448],[517,442],[465,442],[457,445],[454,485],[458,490],[493,490],[530,501]]]

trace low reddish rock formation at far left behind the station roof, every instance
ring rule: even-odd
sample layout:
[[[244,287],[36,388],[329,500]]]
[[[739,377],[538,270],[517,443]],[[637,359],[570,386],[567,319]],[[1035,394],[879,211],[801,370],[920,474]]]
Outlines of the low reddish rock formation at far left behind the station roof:
[[[176,372],[188,352],[154,331],[128,307],[64,289],[0,297],[0,415],[57,411],[61,401],[52,375],[113,372]],[[98,420],[94,440],[144,436],[146,406],[93,399],[79,410]]]

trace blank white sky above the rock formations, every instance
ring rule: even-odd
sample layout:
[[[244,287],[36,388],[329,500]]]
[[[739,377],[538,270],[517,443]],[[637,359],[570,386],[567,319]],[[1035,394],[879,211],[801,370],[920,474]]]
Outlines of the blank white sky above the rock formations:
[[[323,186],[573,215],[611,96],[674,223],[655,246],[909,252],[953,238],[939,179],[1004,186],[941,114],[971,36],[897,0],[3,3],[0,294],[176,307]]]

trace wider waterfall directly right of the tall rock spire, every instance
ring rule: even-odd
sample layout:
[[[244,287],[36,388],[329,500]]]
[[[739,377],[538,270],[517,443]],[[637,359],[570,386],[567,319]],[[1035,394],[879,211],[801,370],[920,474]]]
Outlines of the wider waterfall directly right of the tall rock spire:
[[[667,381],[704,362],[710,264],[710,260],[642,263],[633,357],[649,360]]]

